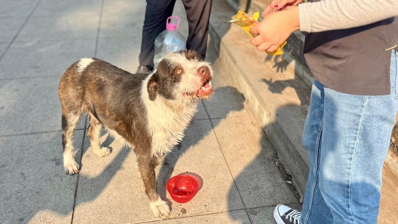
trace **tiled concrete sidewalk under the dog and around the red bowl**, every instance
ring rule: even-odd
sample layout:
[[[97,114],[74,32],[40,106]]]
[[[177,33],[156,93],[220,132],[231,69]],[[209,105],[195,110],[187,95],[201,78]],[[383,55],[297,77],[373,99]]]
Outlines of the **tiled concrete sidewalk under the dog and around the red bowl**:
[[[133,151],[104,132],[112,153],[93,155],[85,117],[74,142],[81,172],[63,173],[59,77],[83,57],[135,72],[144,11],[144,1],[131,0],[0,0],[0,223],[272,224],[276,204],[300,208],[274,164],[275,150],[211,47],[215,95],[199,103],[184,140],[158,169],[160,194],[169,201],[168,178],[200,175],[204,185],[193,200],[170,201],[170,218],[154,218]],[[174,14],[187,36],[180,1]]]

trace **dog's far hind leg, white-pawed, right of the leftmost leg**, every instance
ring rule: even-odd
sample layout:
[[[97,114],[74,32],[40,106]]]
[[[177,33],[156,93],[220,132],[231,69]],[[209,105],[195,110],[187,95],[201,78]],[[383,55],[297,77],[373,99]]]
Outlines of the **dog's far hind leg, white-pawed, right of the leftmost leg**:
[[[94,154],[99,157],[104,157],[109,155],[111,151],[107,147],[101,147],[101,128],[101,122],[93,114],[90,114],[90,127],[88,128],[87,135],[90,137],[91,147]]]

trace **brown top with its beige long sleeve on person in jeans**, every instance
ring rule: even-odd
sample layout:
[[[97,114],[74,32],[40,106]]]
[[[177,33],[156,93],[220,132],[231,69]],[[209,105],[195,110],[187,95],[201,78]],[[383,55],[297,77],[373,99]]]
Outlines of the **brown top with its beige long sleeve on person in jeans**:
[[[398,0],[308,0],[300,4],[304,56],[316,80],[355,95],[386,95],[390,49],[398,50]],[[392,74],[394,75],[394,74]]]

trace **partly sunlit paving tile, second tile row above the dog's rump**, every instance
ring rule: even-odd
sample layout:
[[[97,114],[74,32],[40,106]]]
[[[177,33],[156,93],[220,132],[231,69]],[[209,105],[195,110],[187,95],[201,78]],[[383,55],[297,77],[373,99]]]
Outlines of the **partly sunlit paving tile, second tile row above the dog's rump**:
[[[100,13],[93,16],[60,15],[58,17],[31,17],[16,41],[90,39],[97,38]]]

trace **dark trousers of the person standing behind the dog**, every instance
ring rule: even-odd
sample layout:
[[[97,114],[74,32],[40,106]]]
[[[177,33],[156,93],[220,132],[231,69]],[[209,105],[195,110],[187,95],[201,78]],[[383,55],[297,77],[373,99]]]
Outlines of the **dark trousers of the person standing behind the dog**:
[[[189,35],[187,49],[194,49],[204,58],[212,0],[182,0],[187,12]],[[166,29],[166,19],[172,16],[176,0],[146,0],[142,29],[140,65],[153,67],[155,38]]]

